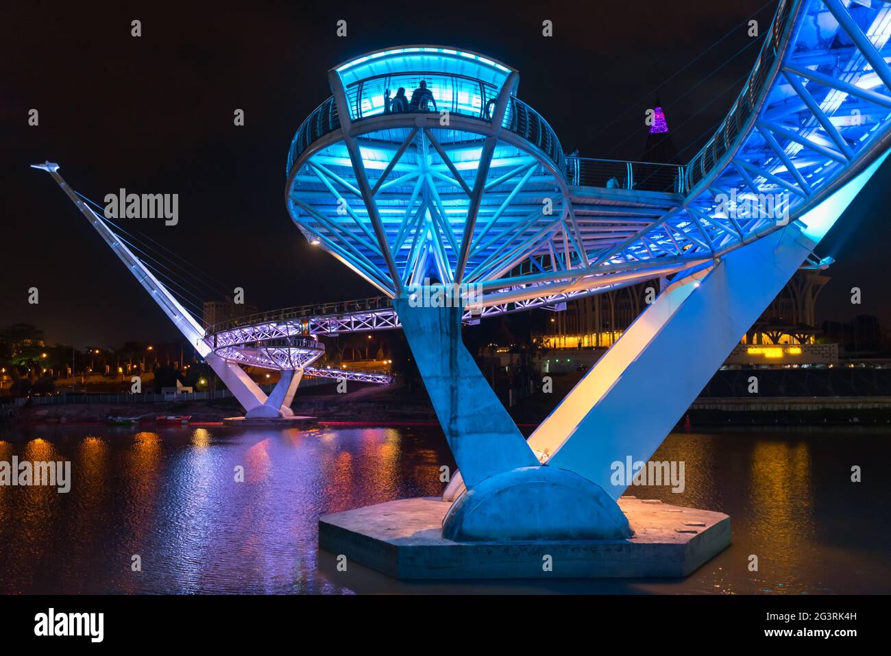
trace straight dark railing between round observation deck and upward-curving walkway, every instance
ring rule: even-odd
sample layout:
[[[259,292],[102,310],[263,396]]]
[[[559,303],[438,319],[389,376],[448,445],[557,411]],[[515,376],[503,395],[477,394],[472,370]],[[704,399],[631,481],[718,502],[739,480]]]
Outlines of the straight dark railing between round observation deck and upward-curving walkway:
[[[568,157],[565,173],[567,182],[574,185],[643,192],[685,191],[684,167],[678,164]]]

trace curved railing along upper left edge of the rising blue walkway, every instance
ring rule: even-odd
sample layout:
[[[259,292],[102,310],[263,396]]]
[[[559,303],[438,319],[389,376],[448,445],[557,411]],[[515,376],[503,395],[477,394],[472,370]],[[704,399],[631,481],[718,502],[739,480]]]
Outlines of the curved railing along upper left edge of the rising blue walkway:
[[[752,68],[746,86],[742,87],[740,95],[737,96],[736,102],[733,103],[731,111],[724,118],[721,127],[715,131],[715,135],[687,164],[684,191],[689,192],[715,168],[726,152],[731,150],[733,142],[745,127],[746,121],[751,118],[752,112],[756,111],[758,97],[764,91],[764,84],[767,82],[768,74],[780,48],[783,31],[792,15],[789,12],[789,4],[789,0],[780,0],[771,31],[764,38],[764,45],[761,46],[761,53],[758,54],[758,59]]]

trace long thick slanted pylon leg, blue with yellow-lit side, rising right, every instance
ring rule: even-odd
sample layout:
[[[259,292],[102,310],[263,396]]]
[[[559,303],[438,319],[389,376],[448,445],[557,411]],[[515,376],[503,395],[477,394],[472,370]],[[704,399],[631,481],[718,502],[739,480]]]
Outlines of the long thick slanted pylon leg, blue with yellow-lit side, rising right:
[[[663,291],[535,430],[529,445],[614,499],[612,464],[645,463],[887,152],[797,221]]]

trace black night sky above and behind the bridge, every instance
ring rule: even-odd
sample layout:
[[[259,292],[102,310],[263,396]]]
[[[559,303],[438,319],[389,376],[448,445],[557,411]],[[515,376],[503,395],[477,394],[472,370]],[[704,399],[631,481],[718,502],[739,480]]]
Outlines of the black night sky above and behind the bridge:
[[[658,95],[687,160],[755,60],[759,46],[745,47],[748,18],[766,29],[775,4],[8,4],[0,28],[0,324],[36,324],[49,342],[78,346],[178,337],[31,163],[59,162],[69,184],[94,201],[119,187],[178,193],[179,225],[147,220],[143,234],[189,258],[217,287],[243,287],[260,309],[374,295],[310,247],[284,205],[290,139],[330,95],[329,68],[391,45],[485,53],[519,70],[519,96],[565,150],[600,158],[640,159],[644,112]],[[130,36],[134,19],[142,37]],[[335,34],[341,19],[346,38]],[[545,19],[551,38],[541,33]],[[27,124],[31,108],[38,127]],[[244,127],[233,126],[236,108]],[[821,297],[824,317],[866,312],[891,324],[889,177],[886,165],[822,246],[838,259]],[[848,302],[854,284],[863,290],[860,307]],[[38,305],[29,305],[29,287],[39,289]]]

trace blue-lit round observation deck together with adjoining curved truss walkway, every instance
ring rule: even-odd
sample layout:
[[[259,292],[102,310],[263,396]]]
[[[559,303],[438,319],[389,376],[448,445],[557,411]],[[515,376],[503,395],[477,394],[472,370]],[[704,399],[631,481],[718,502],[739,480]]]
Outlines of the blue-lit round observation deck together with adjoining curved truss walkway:
[[[290,214],[390,297],[431,278],[479,283],[481,305],[505,307],[711,264],[796,220],[881,146],[889,9],[781,2],[748,83],[683,167],[565,158],[517,97],[517,72],[479,55],[371,53],[331,70],[333,95],[299,128]],[[421,79],[438,111],[385,113],[386,88]]]

